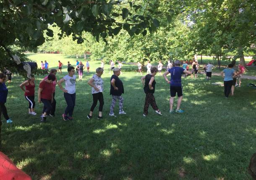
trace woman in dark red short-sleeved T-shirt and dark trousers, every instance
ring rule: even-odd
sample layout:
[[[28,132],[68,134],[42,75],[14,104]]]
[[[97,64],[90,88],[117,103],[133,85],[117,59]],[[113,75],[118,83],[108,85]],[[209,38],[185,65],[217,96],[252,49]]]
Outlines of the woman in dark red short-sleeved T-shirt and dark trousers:
[[[52,110],[52,102],[53,102],[53,91],[54,86],[52,81],[55,81],[56,77],[54,74],[49,74],[47,79],[42,81],[39,84],[38,89],[38,103],[41,102],[44,104],[43,114],[41,116],[41,122],[46,122],[46,117],[50,114]]]

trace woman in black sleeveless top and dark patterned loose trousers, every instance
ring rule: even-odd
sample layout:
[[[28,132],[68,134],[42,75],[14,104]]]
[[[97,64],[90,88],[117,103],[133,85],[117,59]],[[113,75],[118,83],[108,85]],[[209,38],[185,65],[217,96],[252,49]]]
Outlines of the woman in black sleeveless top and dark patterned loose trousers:
[[[158,106],[156,104],[156,100],[154,97],[154,91],[155,91],[155,85],[156,85],[154,76],[157,74],[158,70],[156,67],[152,67],[150,71],[151,71],[150,74],[147,74],[146,76],[143,76],[141,78],[141,82],[142,84],[144,84],[144,92],[146,93],[145,104],[144,104],[144,114],[143,114],[144,117],[148,115],[149,104],[152,106],[152,108],[155,110],[157,114],[162,115],[162,113],[158,109]]]

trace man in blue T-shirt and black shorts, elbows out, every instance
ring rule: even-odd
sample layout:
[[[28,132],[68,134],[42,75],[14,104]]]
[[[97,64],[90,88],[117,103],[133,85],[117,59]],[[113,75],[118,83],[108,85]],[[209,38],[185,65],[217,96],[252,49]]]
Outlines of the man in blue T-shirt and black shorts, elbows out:
[[[171,79],[170,81],[167,79],[167,75],[171,74]],[[180,61],[177,60],[174,63],[174,67],[170,68],[168,71],[163,74],[165,81],[170,84],[170,113],[173,113],[174,110],[172,110],[173,106],[173,101],[176,96],[176,93],[178,94],[178,102],[177,102],[177,108],[176,108],[176,113],[183,113],[184,111],[180,109],[180,104],[182,101],[183,97],[183,90],[182,90],[182,85],[181,85],[181,76],[183,73],[186,74],[191,74],[190,71],[187,71],[186,69],[183,69],[180,67]]]

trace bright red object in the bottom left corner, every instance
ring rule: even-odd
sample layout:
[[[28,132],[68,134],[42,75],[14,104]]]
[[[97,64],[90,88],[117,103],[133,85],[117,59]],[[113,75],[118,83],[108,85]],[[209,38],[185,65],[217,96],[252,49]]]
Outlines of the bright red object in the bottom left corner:
[[[22,170],[18,169],[16,165],[3,152],[0,152],[0,180],[32,180]]]

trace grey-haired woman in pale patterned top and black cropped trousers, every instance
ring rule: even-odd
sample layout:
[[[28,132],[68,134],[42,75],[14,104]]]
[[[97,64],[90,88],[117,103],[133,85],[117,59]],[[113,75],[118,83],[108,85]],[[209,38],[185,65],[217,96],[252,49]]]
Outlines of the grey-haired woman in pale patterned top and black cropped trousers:
[[[102,119],[102,109],[104,105],[104,98],[103,98],[103,89],[104,89],[104,82],[101,78],[101,75],[103,74],[103,68],[97,68],[96,74],[92,76],[92,78],[88,81],[88,84],[91,86],[91,94],[93,98],[93,103],[91,105],[90,113],[87,115],[88,119],[92,118],[92,113],[94,111],[94,108],[97,105],[97,102],[99,100],[99,116],[98,119]]]

